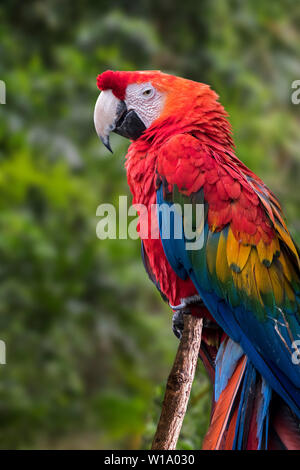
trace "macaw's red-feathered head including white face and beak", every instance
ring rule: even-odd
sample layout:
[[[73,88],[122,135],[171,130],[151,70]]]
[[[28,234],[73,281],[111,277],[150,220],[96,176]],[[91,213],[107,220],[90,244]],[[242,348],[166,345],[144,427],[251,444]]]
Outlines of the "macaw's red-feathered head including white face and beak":
[[[137,140],[162,123],[183,129],[224,117],[218,96],[208,85],[160,71],[114,72],[97,78],[101,93],[94,111],[97,134],[110,150],[109,135],[115,132]]]

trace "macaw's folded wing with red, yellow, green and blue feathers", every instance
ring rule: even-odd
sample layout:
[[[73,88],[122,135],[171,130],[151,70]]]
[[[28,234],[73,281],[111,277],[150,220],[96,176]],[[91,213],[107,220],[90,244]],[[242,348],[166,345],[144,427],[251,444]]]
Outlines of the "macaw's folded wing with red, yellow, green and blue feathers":
[[[157,173],[169,263],[192,279],[217,323],[300,416],[299,257],[279,203],[233,154],[188,134],[161,147]],[[192,244],[186,232],[175,233],[176,224],[187,225],[185,204],[192,207]],[[165,233],[174,207],[175,228],[172,222]]]

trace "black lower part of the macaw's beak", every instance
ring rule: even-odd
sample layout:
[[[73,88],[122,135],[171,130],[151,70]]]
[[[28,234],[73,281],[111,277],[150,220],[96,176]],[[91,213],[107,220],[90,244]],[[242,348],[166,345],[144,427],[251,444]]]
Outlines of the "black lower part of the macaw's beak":
[[[117,108],[117,122],[113,132],[130,140],[138,139],[146,130],[146,126],[133,109],[127,111],[124,101]]]

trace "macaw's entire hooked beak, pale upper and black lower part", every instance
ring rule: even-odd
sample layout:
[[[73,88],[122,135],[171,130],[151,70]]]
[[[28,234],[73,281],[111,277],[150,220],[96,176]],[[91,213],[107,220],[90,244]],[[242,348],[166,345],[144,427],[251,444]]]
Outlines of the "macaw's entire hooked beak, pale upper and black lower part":
[[[128,111],[125,101],[116,98],[111,90],[100,93],[95,105],[94,123],[101,142],[110,152],[111,132],[136,140],[146,129],[136,112],[133,109]]]

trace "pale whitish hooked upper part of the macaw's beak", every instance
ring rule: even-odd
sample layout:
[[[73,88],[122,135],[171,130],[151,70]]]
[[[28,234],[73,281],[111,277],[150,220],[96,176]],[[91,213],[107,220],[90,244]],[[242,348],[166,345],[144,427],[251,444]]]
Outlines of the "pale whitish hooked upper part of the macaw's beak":
[[[109,144],[109,134],[115,128],[117,107],[120,100],[111,90],[100,93],[94,110],[94,124],[102,143],[112,152]]]

